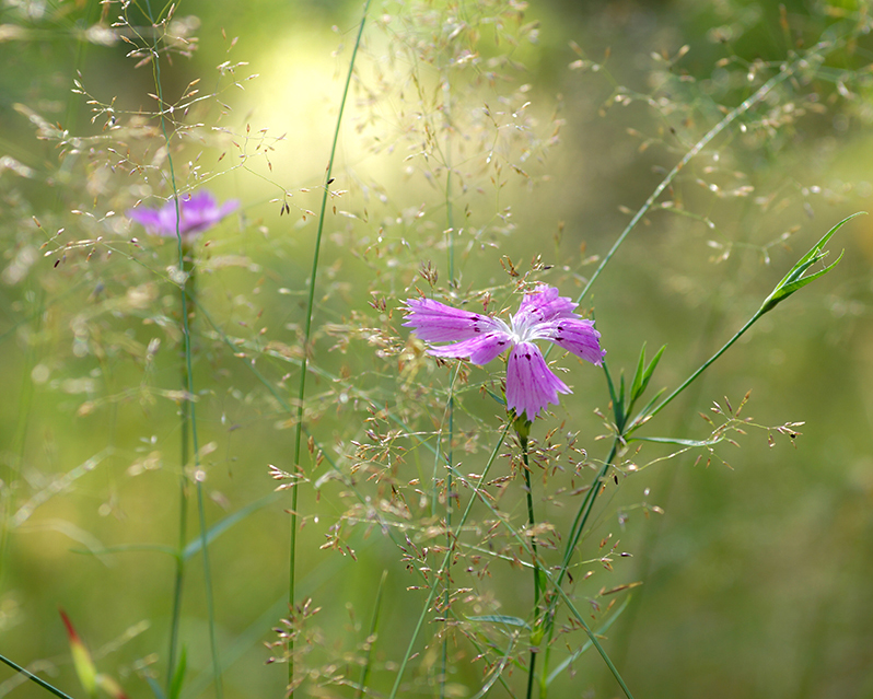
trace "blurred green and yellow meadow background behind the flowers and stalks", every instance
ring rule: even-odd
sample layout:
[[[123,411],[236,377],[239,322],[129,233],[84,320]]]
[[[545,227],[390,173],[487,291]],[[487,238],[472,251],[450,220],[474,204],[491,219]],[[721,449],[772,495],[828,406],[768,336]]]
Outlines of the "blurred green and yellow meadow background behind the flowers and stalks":
[[[779,63],[836,42],[822,51],[820,63],[801,67],[785,91],[740,119],[745,131],[730,129],[680,174],[660,200],[671,207],[648,213],[585,301],[596,312],[610,369],[632,374],[643,342],[650,353],[667,345],[652,385],[672,388],[742,326],[831,225],[870,207],[871,43],[865,32],[850,33],[870,26],[868,10],[849,0],[579,4],[533,3],[523,22],[537,23],[536,34],[528,28],[511,49],[482,40],[484,59],[509,57],[494,69],[511,75],[505,86],[502,79],[484,79],[485,68],[478,81],[461,68],[456,73],[457,113],[488,105],[507,124],[520,125],[517,140],[504,141],[505,129],[489,131],[487,124],[464,125],[457,117],[453,133],[462,143],[453,151],[455,165],[466,173],[455,183],[453,208],[458,218],[469,213],[467,237],[457,244],[458,293],[494,289],[492,310],[515,303],[504,286],[511,281],[504,256],[524,272],[542,256],[552,268],[536,278],[577,295],[595,269],[590,258],[606,254],[628,211],[723,117],[719,105],[736,106]],[[331,198],[337,212],[325,230],[313,362],[324,374],[307,394],[313,433],[331,457],[348,456],[352,439],[365,441],[368,408],[392,399],[398,377],[431,386],[428,395],[438,403],[449,383],[449,370],[427,361],[418,374],[392,374],[399,360],[379,356],[395,347],[380,334],[393,329],[406,342],[399,307],[416,286],[428,290],[417,276],[420,265],[432,263],[438,287],[450,278],[441,233],[444,180],[416,150],[427,150],[427,131],[416,123],[436,123],[438,77],[445,70],[439,50],[424,58],[426,20],[490,5],[386,3],[371,11],[331,185],[342,194]],[[103,7],[113,21],[116,4]],[[131,5],[130,16],[144,11]],[[117,145],[108,151],[112,131],[104,124],[112,115],[104,109],[92,123],[89,100],[108,105],[116,98],[119,114],[153,110],[153,75],[148,66],[133,68],[124,42],[101,45],[83,35],[101,18],[98,3],[8,2],[0,12],[0,65],[7,67],[0,72],[0,156],[14,159],[0,170],[0,653],[78,696],[61,606],[103,672],[118,677],[131,697],[152,696],[142,675],[162,672],[173,561],[131,545],[172,549],[177,536],[178,396],[172,392],[178,389],[178,338],[172,318],[178,298],[167,271],[175,245],[148,238],[123,215],[148,194],[140,176],[152,177],[155,194],[168,194],[160,189],[158,168],[133,177],[125,166],[128,158],[128,164],[155,159],[162,166],[156,141],[131,131],[133,155]],[[275,640],[270,629],[287,614],[288,493],[273,493],[268,465],[293,470],[292,431],[288,412],[251,366],[293,401],[313,252],[315,217],[306,212],[317,210],[360,12],[358,2],[182,2],[177,16],[199,18],[199,25],[190,24],[198,47],[190,57],[173,54],[163,67],[163,90],[173,100],[197,79],[202,94],[214,93],[189,115],[207,127],[174,155],[186,186],[243,202],[240,217],[205,236],[208,246],[200,244],[198,298],[212,325],[196,317],[200,443],[209,445],[207,516],[214,523],[246,513],[210,546],[228,697],[280,696],[284,688],[286,669],[264,664],[270,652],[263,643]],[[388,13],[421,32],[421,62],[404,69],[415,82],[391,80],[392,39],[412,46],[412,30],[403,33]],[[247,65],[217,71],[225,61]],[[73,80],[86,95],[71,93]],[[510,96],[501,102],[503,95]],[[154,127],[146,121],[143,128]],[[59,143],[55,125],[82,140]],[[214,125],[226,132],[211,130]],[[494,175],[482,163],[477,149],[489,138],[499,160],[517,170],[507,164]],[[282,201],[290,215],[280,215]],[[644,468],[610,491],[586,546],[596,560],[598,540],[612,534],[632,557],[618,559],[612,572],[598,567],[589,586],[580,580],[574,593],[606,607],[610,597],[598,591],[643,583],[605,634],[636,696],[873,695],[870,234],[864,217],[840,231],[831,248],[846,248],[846,256],[836,273],[766,316],[649,432],[706,439],[711,428],[698,413],[712,415],[713,400],[724,407],[724,396],[736,407],[750,391],[744,415],[761,426],[803,421],[800,436],[770,431],[770,446],[768,431],[753,428],[737,438],[742,448],[722,443],[714,456],[691,451],[661,461],[677,448],[652,445],[627,456]],[[129,242],[133,235],[138,245]],[[222,334],[238,340],[245,357],[235,357]],[[152,351],[154,338],[161,343]],[[595,436],[604,426],[593,413],[608,409],[603,376],[567,360],[563,365],[571,366],[574,393],[535,429],[540,439],[549,427],[578,431],[589,455],[603,458]],[[484,424],[497,429],[500,407],[477,391],[482,382],[494,388],[488,376],[497,371],[469,372],[462,429],[470,442]],[[360,376],[360,386],[349,376]],[[358,387],[365,393],[357,394]],[[491,443],[481,436],[461,470],[479,473]],[[314,458],[306,459],[304,468],[316,473],[309,470]],[[397,478],[408,482],[427,479],[432,466],[422,456],[400,468],[409,471]],[[567,476],[552,474],[548,486],[559,487]],[[521,502],[517,490],[509,498]],[[642,502],[663,514],[643,514]],[[32,513],[22,511],[28,504]],[[560,504],[557,498],[538,503],[544,517],[556,521],[568,516]],[[340,664],[354,667],[379,581],[388,571],[391,604],[380,618],[373,673],[384,691],[423,595],[407,592],[416,578],[379,526],[344,525],[341,547],[352,548],[354,559],[319,548],[348,509],[340,482],[301,488],[300,590],[322,607],[319,630],[313,630],[321,634],[318,652],[333,650]],[[195,531],[191,521],[189,534]],[[127,548],[106,550],[113,547]],[[527,575],[500,566],[493,563],[490,583],[499,610],[524,617]],[[213,689],[201,569],[191,564],[188,575],[183,696],[194,697]],[[621,594],[619,603],[627,597]],[[591,606],[596,619],[604,618],[600,607]],[[422,651],[419,661],[409,691],[431,695],[435,660]],[[574,669],[554,696],[617,696],[600,657],[586,653]],[[464,660],[450,678],[452,691],[468,696],[481,673]],[[312,687],[318,696],[341,696],[336,687]],[[496,688],[494,696],[502,691]],[[0,695],[7,694],[45,696],[0,671]]]

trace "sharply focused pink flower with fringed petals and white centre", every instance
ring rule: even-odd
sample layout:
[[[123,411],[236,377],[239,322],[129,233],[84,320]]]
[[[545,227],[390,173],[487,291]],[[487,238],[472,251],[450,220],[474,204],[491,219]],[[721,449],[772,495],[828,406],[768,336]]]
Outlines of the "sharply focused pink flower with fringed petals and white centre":
[[[519,313],[507,324],[431,299],[409,299],[404,326],[411,327],[430,346],[434,357],[468,359],[484,365],[510,350],[507,363],[507,407],[517,417],[534,420],[559,393],[572,393],[546,364],[534,340],[549,340],[561,349],[600,366],[605,350],[593,321],[573,313],[577,303],[559,296],[555,287],[540,284],[524,295]]]

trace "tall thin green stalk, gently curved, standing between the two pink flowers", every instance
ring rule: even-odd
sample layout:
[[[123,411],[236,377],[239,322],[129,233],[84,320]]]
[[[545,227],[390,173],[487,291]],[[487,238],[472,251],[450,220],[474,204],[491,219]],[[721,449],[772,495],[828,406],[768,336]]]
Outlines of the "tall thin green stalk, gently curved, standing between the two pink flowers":
[[[312,256],[312,273],[310,275],[310,293],[306,300],[306,317],[303,331],[303,359],[300,365],[300,385],[298,387],[298,406],[296,406],[296,424],[294,428],[294,468],[300,466],[300,450],[303,441],[303,399],[306,396],[306,364],[309,363],[310,342],[312,340],[312,316],[315,307],[315,281],[318,275],[318,256],[322,249],[322,233],[324,232],[325,215],[327,211],[327,198],[330,194],[328,187],[333,179],[334,172],[334,158],[336,156],[337,143],[339,141],[339,131],[342,125],[342,113],[346,108],[346,101],[349,95],[349,86],[351,85],[351,77],[354,72],[354,60],[358,57],[358,48],[361,45],[361,36],[363,35],[364,24],[366,23],[366,15],[370,11],[370,1],[366,0],[363,9],[363,16],[361,24],[358,27],[358,36],[354,39],[354,46],[351,50],[351,60],[349,61],[349,71],[346,74],[346,85],[342,89],[342,97],[339,102],[339,114],[337,115],[337,125],[334,129],[334,141],[330,145],[330,158],[327,161],[327,171],[325,173],[324,193],[322,195],[322,210],[318,214],[318,229],[315,233],[315,251]],[[295,561],[296,561],[296,537],[298,537],[298,491],[299,488],[291,489],[291,533],[288,545],[289,549],[289,576],[288,576],[288,604],[293,609],[296,601],[295,585]],[[294,638],[293,634],[288,641],[288,685],[293,687],[294,681]],[[294,696],[293,688],[289,691],[289,697]]]

